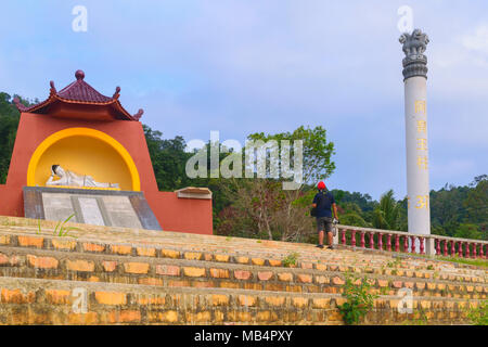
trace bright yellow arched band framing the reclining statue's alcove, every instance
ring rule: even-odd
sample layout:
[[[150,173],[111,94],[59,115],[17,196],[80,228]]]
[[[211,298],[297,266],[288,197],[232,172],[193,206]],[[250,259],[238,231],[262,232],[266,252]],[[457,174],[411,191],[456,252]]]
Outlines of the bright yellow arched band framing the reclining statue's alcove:
[[[141,180],[139,178],[139,171],[136,167],[136,164],[133,163],[132,157],[130,156],[129,152],[121,145],[120,142],[115,140],[114,138],[110,137],[105,132],[90,129],[90,128],[68,128],[61,131],[57,131],[39,144],[39,146],[34,152],[33,156],[30,157],[29,166],[27,168],[27,185],[34,187],[36,185],[36,169],[37,165],[39,164],[39,159],[41,158],[42,154],[55,142],[74,137],[74,136],[85,136],[90,138],[99,139],[110,146],[112,146],[124,159],[127,167],[129,168],[130,177],[132,180],[132,190],[133,191],[140,191],[141,190]]]

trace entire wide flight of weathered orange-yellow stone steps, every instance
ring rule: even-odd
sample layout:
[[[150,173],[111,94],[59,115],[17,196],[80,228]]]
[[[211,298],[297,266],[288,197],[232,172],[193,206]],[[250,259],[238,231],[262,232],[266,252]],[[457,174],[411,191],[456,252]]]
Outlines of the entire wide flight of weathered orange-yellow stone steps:
[[[1,324],[343,324],[347,273],[378,295],[365,324],[464,324],[488,293],[486,268],[425,257],[69,226],[0,217]]]

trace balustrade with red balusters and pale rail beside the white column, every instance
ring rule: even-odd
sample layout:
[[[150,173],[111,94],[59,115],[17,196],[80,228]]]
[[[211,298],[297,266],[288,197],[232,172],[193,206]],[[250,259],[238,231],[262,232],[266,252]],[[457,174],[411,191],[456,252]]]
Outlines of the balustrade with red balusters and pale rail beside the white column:
[[[337,226],[335,243],[364,249],[487,258],[488,241],[412,234],[401,231]],[[359,237],[358,237],[359,236]]]

